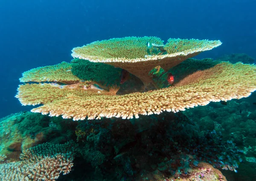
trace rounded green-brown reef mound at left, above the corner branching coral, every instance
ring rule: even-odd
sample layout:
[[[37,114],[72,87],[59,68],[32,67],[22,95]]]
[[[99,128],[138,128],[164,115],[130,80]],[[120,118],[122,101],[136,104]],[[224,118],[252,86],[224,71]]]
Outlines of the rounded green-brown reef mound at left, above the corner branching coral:
[[[45,141],[59,144],[75,133],[77,123],[32,112],[19,112],[0,120],[0,155],[17,160],[20,153]],[[1,157],[1,156],[0,156]]]

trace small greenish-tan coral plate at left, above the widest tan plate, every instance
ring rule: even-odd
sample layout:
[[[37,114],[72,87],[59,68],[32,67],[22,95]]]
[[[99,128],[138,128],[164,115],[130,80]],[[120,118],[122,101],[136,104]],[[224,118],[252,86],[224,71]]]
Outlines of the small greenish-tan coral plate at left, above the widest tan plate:
[[[61,82],[77,83],[79,78],[73,75],[71,63],[62,62],[53,66],[31,69],[22,74],[20,82]]]

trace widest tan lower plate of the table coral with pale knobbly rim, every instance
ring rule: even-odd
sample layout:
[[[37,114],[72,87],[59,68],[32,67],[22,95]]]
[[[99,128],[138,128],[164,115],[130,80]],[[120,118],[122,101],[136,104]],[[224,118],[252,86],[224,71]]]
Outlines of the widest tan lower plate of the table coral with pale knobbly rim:
[[[186,76],[175,86],[143,93],[113,95],[93,89],[89,82],[68,86],[44,83],[20,85],[16,97],[23,105],[44,104],[32,112],[83,120],[178,112],[210,101],[248,97],[255,90],[256,66],[219,63]]]

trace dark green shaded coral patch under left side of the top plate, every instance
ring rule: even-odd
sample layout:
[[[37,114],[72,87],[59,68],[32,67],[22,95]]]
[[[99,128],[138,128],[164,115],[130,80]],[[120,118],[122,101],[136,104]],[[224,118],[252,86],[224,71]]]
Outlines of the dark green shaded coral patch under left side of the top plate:
[[[82,80],[93,80],[107,86],[119,85],[122,69],[105,63],[93,63],[89,60],[73,59],[72,73]]]

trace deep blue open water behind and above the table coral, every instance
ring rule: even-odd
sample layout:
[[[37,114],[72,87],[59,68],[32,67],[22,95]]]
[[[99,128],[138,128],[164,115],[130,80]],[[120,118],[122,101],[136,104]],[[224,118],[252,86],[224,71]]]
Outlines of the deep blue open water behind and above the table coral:
[[[95,40],[221,40],[200,57],[256,57],[255,7],[255,0],[0,0],[0,117],[31,109],[14,98],[22,72],[70,61],[73,47]]]

